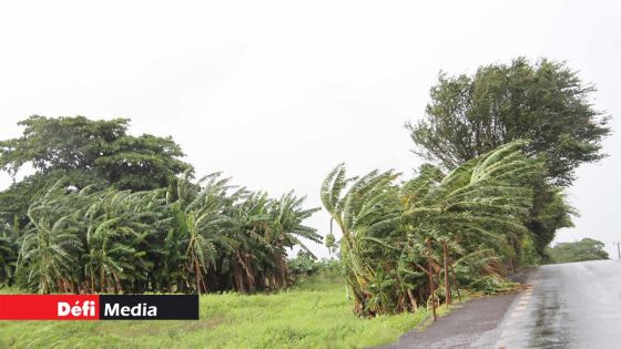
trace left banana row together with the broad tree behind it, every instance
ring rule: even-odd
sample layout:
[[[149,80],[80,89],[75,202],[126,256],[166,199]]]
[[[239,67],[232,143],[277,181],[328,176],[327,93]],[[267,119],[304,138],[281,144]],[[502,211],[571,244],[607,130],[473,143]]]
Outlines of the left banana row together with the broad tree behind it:
[[[288,286],[288,248],[322,242],[303,225],[317,211],[304,197],[274,198],[220,173],[193,179],[171,140],[124,135],[124,120],[22,124],[23,137],[1,143],[0,163],[37,171],[0,194],[0,285],[39,294],[272,290]]]

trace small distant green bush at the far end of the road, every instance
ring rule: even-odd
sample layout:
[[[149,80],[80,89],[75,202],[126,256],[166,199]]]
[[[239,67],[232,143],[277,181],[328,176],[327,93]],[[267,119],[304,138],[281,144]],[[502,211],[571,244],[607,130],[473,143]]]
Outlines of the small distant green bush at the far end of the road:
[[[546,253],[551,263],[609,259],[603,247],[602,242],[586,237],[580,242],[557,244],[554,247],[548,248]]]

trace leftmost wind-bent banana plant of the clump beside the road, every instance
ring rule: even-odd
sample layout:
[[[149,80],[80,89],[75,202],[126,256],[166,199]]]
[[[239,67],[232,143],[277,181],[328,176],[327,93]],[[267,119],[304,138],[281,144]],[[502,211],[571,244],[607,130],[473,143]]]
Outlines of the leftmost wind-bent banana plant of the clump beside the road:
[[[385,253],[397,249],[394,247],[396,239],[390,242],[389,235],[403,237],[403,230],[397,228],[401,207],[393,184],[396,177],[393,171],[373,171],[360,178],[348,178],[345,165],[340,164],[322,185],[322,203],[343,234],[340,260],[357,314],[384,310],[380,309],[383,304],[377,301],[369,309],[368,297],[381,297],[385,286],[391,286],[381,285],[383,280],[375,281],[376,270],[384,267],[381,261],[393,263]],[[371,285],[379,288],[375,294],[369,292]]]

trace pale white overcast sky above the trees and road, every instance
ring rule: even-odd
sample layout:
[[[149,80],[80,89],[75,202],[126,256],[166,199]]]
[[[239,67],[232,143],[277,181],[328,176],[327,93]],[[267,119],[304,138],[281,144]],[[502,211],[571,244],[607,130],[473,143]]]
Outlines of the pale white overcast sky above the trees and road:
[[[609,157],[578,170],[580,217],[556,242],[593,237],[617,257],[618,1],[3,1],[0,44],[0,140],[32,114],[130,117],[132,134],[173,136],[197,174],[295,189],[309,207],[340,162],[352,175],[423,163],[404,124],[424,116],[440,71],[567,61],[597,85],[613,134]],[[328,220],[307,224],[325,235]]]

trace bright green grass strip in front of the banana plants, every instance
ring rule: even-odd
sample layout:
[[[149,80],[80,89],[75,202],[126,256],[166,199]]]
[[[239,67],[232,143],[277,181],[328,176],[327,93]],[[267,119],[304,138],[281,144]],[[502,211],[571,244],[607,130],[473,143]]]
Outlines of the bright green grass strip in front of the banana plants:
[[[342,279],[324,274],[277,294],[202,296],[197,321],[0,321],[0,348],[360,348],[427,316],[359,319]]]

